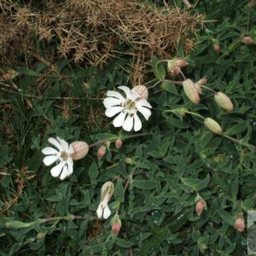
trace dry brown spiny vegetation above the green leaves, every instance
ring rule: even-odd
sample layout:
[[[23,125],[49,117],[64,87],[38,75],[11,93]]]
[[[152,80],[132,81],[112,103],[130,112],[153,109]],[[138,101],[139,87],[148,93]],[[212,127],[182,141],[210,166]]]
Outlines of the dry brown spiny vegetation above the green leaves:
[[[49,66],[67,57],[102,67],[123,53],[132,57],[131,82],[139,84],[152,55],[170,58],[180,38],[186,51],[193,49],[188,34],[201,21],[200,15],[136,1],[40,1],[37,8],[32,4],[0,2],[2,67],[20,61],[28,65],[31,57],[42,56]]]

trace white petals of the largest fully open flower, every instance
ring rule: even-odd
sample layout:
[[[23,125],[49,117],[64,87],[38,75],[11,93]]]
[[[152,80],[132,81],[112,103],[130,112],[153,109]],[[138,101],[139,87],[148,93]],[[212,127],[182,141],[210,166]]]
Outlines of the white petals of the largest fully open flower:
[[[126,86],[119,86],[118,88],[125,91],[126,98],[117,91],[108,90],[108,97],[103,101],[105,108],[107,108],[105,114],[111,118],[119,113],[113,119],[114,127],[122,126],[125,131],[131,131],[132,127],[134,131],[141,130],[142,122],[137,116],[137,111],[142,113],[144,118],[148,120],[151,115],[149,109],[152,108],[151,105],[147,100],[142,99],[136,91],[130,90]]]

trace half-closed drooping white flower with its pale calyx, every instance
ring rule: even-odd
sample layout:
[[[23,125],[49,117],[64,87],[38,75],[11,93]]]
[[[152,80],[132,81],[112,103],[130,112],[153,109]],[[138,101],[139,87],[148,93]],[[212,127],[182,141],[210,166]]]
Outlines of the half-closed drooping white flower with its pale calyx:
[[[96,211],[98,218],[103,217],[107,219],[110,216],[111,211],[108,207],[108,201],[111,199],[113,195],[113,190],[114,188],[112,182],[107,182],[103,184],[101,190],[101,202]]]

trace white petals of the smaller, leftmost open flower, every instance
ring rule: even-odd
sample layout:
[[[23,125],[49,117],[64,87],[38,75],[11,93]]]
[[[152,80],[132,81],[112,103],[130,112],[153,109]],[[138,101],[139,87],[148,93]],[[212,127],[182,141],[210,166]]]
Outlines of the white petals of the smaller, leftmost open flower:
[[[46,155],[43,160],[44,165],[50,166],[57,162],[57,165],[50,170],[50,173],[52,177],[60,176],[60,179],[63,180],[73,173],[73,159],[71,157],[71,154],[74,153],[73,146],[68,146],[68,143],[60,137],[57,137],[57,139],[49,137],[48,141],[58,150],[51,147],[42,149],[42,153]]]

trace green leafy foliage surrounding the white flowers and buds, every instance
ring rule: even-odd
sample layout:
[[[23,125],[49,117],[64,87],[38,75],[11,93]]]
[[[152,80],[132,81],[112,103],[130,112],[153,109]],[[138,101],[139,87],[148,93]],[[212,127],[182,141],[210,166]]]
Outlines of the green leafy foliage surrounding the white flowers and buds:
[[[255,32],[255,8],[247,1],[206,0],[190,12],[208,21],[197,31],[183,73],[194,81],[206,76],[207,87],[230,96],[230,113],[210,90],[199,104],[189,102],[157,56],[147,84],[152,115],[142,136],[113,128],[104,116],[106,90],[130,85],[124,55],[103,69],[64,59],[52,71],[34,60],[14,67],[15,78],[2,77],[1,255],[246,255],[247,233],[233,225],[237,213],[246,218],[255,207],[256,55],[255,45],[241,42]],[[184,57],[183,40],[177,57]],[[217,120],[224,133],[208,131],[201,116]],[[100,144],[91,147],[61,182],[42,165],[41,149],[56,136],[88,144],[124,139],[119,149],[111,143],[102,160],[96,159]],[[96,218],[109,180],[115,184],[109,207],[122,223],[118,236],[111,218]],[[199,196],[207,202],[200,217]]]

